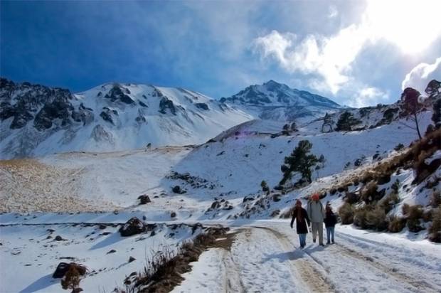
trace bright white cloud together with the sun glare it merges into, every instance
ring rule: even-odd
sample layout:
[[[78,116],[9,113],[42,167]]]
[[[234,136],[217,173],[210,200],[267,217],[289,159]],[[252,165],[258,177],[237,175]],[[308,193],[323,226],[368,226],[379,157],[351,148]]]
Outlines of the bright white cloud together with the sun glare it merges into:
[[[430,46],[441,36],[440,9],[441,1],[435,0],[399,4],[371,0],[359,23],[332,36],[310,34],[301,39],[294,33],[272,31],[255,38],[253,48],[263,58],[276,60],[287,72],[307,75],[309,84],[336,95],[354,80],[352,65],[367,44],[386,40],[405,53],[417,53]]]

